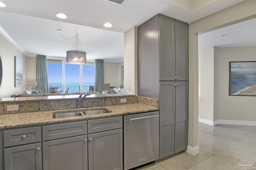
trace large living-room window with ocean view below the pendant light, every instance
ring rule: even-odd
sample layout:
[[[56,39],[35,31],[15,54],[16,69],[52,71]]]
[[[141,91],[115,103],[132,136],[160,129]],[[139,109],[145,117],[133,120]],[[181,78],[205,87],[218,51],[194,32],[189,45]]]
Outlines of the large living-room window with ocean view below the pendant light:
[[[60,92],[86,92],[94,86],[95,66],[91,64],[67,64],[65,60],[48,59],[49,88]],[[63,90],[64,89],[64,90]]]

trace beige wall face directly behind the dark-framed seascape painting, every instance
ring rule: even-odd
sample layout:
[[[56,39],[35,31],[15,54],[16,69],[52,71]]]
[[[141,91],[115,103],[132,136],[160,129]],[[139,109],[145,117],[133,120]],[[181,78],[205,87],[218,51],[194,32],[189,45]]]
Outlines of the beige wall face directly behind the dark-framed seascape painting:
[[[256,121],[256,97],[228,96],[229,62],[256,61],[256,47],[218,48],[218,119]]]

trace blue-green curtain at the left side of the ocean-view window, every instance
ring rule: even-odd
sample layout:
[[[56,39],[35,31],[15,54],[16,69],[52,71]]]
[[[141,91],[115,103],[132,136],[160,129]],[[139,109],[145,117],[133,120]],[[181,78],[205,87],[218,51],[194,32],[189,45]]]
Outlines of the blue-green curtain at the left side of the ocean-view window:
[[[36,55],[37,89],[42,93],[49,93],[47,59],[44,55]]]

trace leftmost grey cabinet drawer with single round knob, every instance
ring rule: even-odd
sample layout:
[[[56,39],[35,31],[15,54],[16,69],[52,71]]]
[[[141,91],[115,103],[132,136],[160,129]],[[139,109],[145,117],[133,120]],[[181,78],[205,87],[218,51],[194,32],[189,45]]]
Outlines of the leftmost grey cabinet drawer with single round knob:
[[[41,141],[41,127],[27,127],[4,131],[4,147]]]

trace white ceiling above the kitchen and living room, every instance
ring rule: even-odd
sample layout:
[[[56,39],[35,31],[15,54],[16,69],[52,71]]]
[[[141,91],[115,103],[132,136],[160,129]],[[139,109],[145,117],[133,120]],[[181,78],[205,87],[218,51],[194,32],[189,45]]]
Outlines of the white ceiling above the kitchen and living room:
[[[156,14],[191,23],[243,0],[217,0],[194,12],[166,0],[124,0],[121,5],[108,0],[1,1],[7,6],[0,8],[0,31],[6,32],[26,56],[65,57],[74,41],[63,39],[57,32],[62,29],[67,38],[78,33],[89,59],[120,62],[124,55],[124,33]],[[205,0],[193,0],[202,1]],[[64,13],[68,18],[58,19],[56,13]],[[103,27],[106,22],[113,27]]]

